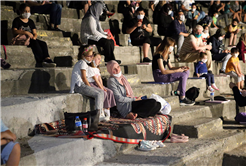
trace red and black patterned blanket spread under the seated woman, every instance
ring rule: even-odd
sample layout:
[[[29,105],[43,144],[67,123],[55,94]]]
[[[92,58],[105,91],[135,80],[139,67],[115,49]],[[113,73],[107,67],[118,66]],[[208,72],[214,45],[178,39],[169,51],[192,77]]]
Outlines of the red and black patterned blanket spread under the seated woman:
[[[172,117],[169,115],[156,115],[149,118],[135,120],[112,118],[108,122],[101,122],[97,133],[68,133],[65,130],[65,121],[43,123],[35,126],[35,134],[60,138],[87,138],[98,137],[114,142],[138,144],[142,140],[162,140],[163,142],[171,133]]]

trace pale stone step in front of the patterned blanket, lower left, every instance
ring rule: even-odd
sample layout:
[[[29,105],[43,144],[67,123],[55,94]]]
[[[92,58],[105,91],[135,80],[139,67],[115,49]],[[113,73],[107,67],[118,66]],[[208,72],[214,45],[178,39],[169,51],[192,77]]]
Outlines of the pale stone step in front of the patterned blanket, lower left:
[[[118,146],[102,139],[35,136],[22,146],[21,153],[26,155],[21,157],[19,165],[94,165],[122,152]]]

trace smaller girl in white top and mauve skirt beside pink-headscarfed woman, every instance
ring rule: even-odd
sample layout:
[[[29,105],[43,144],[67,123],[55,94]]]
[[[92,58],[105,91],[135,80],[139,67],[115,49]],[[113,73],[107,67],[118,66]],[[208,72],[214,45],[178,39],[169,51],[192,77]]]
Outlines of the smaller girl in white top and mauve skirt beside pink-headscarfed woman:
[[[110,108],[116,106],[116,103],[115,103],[114,94],[112,90],[103,86],[100,69],[99,69],[99,64],[101,62],[101,59],[102,58],[99,53],[94,54],[94,59],[91,63],[92,67],[89,67],[89,71],[88,71],[89,73],[88,81],[91,87],[103,90],[104,92],[104,102],[103,102],[104,111],[100,115],[100,119],[108,121],[110,120]]]

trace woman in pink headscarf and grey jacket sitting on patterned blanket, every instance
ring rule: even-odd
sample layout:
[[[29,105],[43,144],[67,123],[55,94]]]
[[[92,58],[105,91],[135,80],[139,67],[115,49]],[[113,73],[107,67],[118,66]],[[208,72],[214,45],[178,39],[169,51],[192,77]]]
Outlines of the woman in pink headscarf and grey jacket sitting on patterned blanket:
[[[161,109],[161,104],[155,99],[134,97],[132,88],[126,77],[122,75],[119,64],[112,60],[107,63],[110,74],[108,88],[114,93],[117,110],[122,117],[136,119],[155,116]]]

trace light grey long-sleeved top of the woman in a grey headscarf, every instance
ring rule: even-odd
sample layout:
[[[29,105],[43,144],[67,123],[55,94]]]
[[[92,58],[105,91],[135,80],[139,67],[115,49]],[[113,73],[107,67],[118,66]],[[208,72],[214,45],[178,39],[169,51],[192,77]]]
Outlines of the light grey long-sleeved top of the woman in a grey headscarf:
[[[101,24],[97,24],[92,16],[82,20],[80,35],[81,42],[85,45],[88,44],[88,39],[99,41],[101,38],[107,38],[107,33],[103,31]]]

